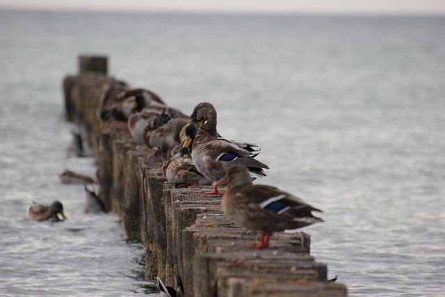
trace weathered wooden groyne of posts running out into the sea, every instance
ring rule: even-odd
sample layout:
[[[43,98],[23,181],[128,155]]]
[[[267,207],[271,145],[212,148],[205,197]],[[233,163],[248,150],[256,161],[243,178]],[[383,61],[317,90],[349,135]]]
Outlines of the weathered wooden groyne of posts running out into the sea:
[[[246,248],[257,234],[225,218],[220,196],[165,182],[165,160],[147,157],[149,148],[133,140],[126,122],[101,129],[99,97],[114,80],[106,72],[106,57],[79,58],[79,74],[63,81],[66,118],[86,131],[106,207],[120,216],[127,238],[144,243],[148,280],[159,275],[175,287],[178,273],[186,296],[347,296],[310,255],[309,234],[280,234],[271,248]]]

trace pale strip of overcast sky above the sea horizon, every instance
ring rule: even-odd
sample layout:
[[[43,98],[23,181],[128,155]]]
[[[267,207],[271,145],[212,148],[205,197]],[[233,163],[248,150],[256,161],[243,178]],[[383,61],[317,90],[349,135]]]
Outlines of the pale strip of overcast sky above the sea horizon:
[[[445,14],[445,0],[0,0],[0,8]]]

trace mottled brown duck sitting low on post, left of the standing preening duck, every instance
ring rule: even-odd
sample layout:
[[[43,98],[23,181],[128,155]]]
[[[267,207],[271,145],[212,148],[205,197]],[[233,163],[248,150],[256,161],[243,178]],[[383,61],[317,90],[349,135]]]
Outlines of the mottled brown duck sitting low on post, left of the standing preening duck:
[[[211,180],[204,177],[193,164],[190,150],[188,147],[182,147],[181,152],[162,166],[162,173],[170,184],[175,184],[177,188],[198,184],[200,186],[209,186]]]

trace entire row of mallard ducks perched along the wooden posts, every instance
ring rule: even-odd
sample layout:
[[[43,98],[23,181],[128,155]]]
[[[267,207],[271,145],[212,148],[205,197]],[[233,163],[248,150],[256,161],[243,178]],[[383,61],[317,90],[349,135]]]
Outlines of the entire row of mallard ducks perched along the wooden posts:
[[[115,82],[114,82],[115,83]],[[113,91],[114,90],[114,91]],[[213,104],[201,102],[191,116],[168,106],[150,90],[127,88],[118,95],[108,85],[100,104],[102,121],[126,120],[133,138],[161,154],[163,176],[177,187],[209,186],[223,194],[224,214],[236,225],[261,231],[259,243],[248,248],[266,248],[273,232],[296,230],[322,222],[312,214],[316,207],[275,186],[253,184],[266,176],[269,167],[257,160],[258,145],[229,141],[217,131]],[[218,186],[227,184],[225,192]]]

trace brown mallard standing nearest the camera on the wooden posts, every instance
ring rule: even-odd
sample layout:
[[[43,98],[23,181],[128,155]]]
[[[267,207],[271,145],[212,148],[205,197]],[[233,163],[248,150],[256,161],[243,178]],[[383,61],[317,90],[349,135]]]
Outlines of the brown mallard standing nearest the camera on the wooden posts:
[[[249,248],[269,246],[272,232],[294,230],[314,223],[321,218],[312,215],[312,211],[321,211],[307,204],[300,198],[263,184],[252,184],[248,168],[232,166],[216,185],[230,184],[223,195],[224,214],[249,230],[261,230],[261,240]]]

